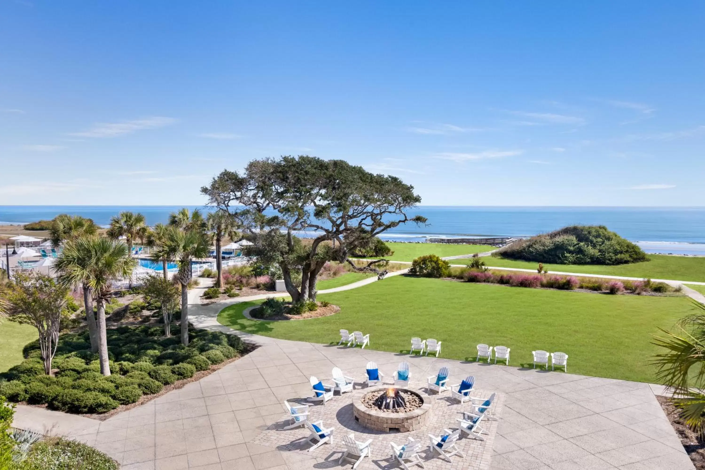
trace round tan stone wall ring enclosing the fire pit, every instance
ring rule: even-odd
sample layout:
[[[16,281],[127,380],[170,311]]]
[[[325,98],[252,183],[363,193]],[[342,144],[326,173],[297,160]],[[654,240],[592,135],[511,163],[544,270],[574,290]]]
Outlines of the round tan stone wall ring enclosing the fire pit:
[[[398,388],[398,390],[414,392],[423,400],[424,404],[412,412],[383,412],[381,409],[368,408],[362,403],[362,397],[369,392],[387,390],[388,388],[391,388],[391,386],[362,388],[353,392],[353,414],[358,423],[374,431],[389,432],[398,430],[401,433],[406,433],[408,431],[417,431],[431,421],[431,402],[429,402],[428,397],[424,398],[424,395],[417,392],[417,390]]]

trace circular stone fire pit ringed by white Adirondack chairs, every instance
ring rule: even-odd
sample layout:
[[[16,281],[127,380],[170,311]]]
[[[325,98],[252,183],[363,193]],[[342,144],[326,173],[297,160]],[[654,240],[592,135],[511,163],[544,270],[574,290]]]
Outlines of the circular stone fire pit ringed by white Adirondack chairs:
[[[415,390],[395,388],[405,398],[406,406],[395,409],[379,409],[374,402],[392,385],[371,387],[353,392],[353,414],[355,421],[374,431],[399,431],[405,433],[426,426],[431,420],[431,402]]]

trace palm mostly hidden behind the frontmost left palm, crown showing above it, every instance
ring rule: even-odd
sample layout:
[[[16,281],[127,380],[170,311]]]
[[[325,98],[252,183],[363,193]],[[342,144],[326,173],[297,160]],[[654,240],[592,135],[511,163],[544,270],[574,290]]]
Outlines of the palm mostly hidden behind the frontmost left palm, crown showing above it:
[[[98,225],[90,218],[81,216],[70,216],[59,214],[51,221],[49,228],[49,238],[51,245],[58,249],[66,242],[77,240],[80,237],[94,237],[98,233]],[[83,264],[89,262],[86,259],[80,260]],[[56,265],[54,265],[56,268]],[[90,349],[98,352],[98,326],[95,323],[95,313],[93,311],[93,297],[90,287],[86,283],[81,283],[83,290],[83,305],[85,306],[86,323],[88,323],[88,335],[90,336]]]

